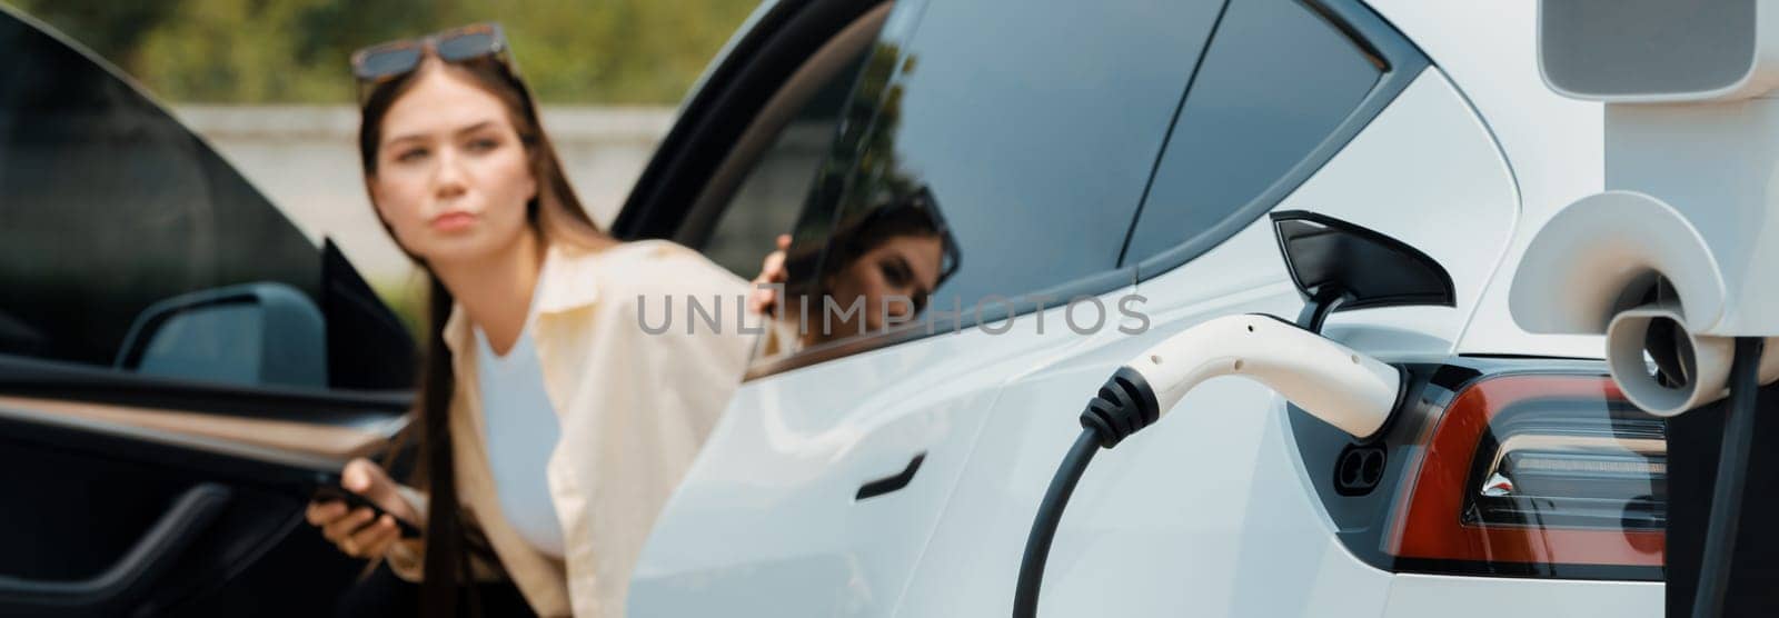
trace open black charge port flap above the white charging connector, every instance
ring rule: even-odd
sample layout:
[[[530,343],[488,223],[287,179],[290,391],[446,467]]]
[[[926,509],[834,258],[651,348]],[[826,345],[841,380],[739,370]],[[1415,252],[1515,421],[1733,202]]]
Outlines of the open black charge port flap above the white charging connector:
[[[1300,210],[1272,213],[1272,231],[1306,302],[1297,323],[1311,332],[1334,311],[1457,305],[1445,266],[1400,240]]]

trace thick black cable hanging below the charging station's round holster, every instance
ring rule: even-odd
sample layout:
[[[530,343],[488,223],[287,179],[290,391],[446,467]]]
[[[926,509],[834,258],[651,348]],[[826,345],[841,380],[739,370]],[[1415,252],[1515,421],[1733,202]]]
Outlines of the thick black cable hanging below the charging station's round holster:
[[[1736,337],[1736,360],[1729,368],[1729,417],[1724,419],[1724,446],[1717,455],[1704,559],[1699,563],[1699,590],[1692,597],[1694,618],[1717,618],[1724,613],[1729,561],[1742,526],[1742,490],[1749,476],[1749,453],[1754,449],[1754,400],[1759,394],[1763,345],[1761,337]]]

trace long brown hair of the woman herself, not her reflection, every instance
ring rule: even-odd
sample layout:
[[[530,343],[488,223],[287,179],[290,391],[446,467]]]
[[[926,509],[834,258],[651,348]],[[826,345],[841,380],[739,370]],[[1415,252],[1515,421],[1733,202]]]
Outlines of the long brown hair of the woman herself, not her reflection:
[[[532,178],[537,179],[537,197],[527,204],[525,213],[539,243],[560,242],[584,250],[600,250],[616,243],[587,217],[575,188],[569,186],[555,146],[550,144],[550,137],[544,135],[543,124],[537,121],[537,107],[525,82],[493,59],[450,64],[429,59],[420,69],[382,82],[370,92],[358,131],[358,153],[366,190],[377,176],[382,119],[390,107],[411,91],[427,71],[450,71],[493,94],[507,108],[509,121],[527,147]],[[375,199],[374,192],[372,199]],[[377,217],[381,220],[382,215]],[[382,220],[382,227],[400,245],[400,238],[390,229],[388,220]],[[418,435],[420,444],[420,460],[411,483],[427,488],[427,503],[431,504],[425,526],[420,611],[423,616],[452,616],[457,609],[459,582],[468,584],[471,595],[475,588],[466,552],[470,540],[457,510],[457,474],[452,467],[450,400],[457,391],[457,380],[452,373],[450,348],[445,346],[445,321],[450,318],[455,300],[422,256],[407,247],[402,250],[425,272],[429,293],[429,336],[420,366],[418,398],[415,400],[415,416],[420,423],[409,423],[407,430],[409,435]]]

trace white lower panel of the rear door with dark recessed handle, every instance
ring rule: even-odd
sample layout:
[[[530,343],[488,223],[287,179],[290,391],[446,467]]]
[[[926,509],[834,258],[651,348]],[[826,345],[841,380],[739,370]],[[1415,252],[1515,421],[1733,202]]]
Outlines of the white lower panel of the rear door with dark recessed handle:
[[[742,385],[655,524],[630,613],[890,614],[1000,385],[1080,345],[1060,323],[1037,336],[1021,318],[1030,336],[970,329]],[[906,488],[856,497],[916,455]]]

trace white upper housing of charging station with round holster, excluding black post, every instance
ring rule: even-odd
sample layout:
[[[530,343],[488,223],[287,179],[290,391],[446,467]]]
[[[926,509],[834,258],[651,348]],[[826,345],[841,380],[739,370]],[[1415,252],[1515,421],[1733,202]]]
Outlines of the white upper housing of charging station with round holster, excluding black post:
[[[1729,337],[1779,336],[1779,2],[1541,0],[1539,71],[1605,103],[1606,190],[1532,240],[1514,320],[1606,336],[1614,380],[1653,414],[1722,398]]]

